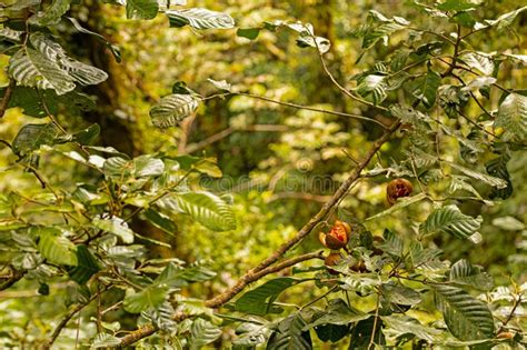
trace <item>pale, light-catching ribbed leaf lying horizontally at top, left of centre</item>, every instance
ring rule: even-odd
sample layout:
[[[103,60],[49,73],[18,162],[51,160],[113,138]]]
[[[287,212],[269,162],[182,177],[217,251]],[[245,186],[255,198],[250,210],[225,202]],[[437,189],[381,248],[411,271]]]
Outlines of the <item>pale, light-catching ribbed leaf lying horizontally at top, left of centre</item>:
[[[235,27],[235,20],[227,13],[193,8],[185,10],[168,10],[170,27],[190,26],[193,29],[229,29]]]

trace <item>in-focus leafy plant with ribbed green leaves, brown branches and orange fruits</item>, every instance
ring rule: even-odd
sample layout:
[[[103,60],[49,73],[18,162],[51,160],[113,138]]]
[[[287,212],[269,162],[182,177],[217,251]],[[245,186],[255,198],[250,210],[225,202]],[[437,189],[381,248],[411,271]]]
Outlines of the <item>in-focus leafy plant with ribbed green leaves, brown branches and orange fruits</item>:
[[[238,28],[236,13],[189,8],[186,1],[105,2],[123,7],[131,20],[163,17],[175,33],[181,27],[223,30],[258,42],[262,32],[288,31],[305,54],[321,64],[342,99],[370,111],[358,114],[282,102],[211,77],[211,94],[193,91],[192,81],[187,81],[152,101],[151,128],[178,128],[187,117],[199,118],[205,101],[221,103],[243,96],[348,117],[378,137],[368,149],[358,150],[360,158],[350,159],[347,178],[296,234],[222,292],[191,294],[192,284],[207,283],[219,271],[203,262],[152,258],[147,247],[170,246],[136,229],[132,221],[140,218],[173,236],[175,222],[187,216],[208,232],[228,234],[223,231],[237,226],[232,198],[199,186],[200,178],[221,177],[221,170],[212,158],[127,154],[98,146],[103,126],[97,123],[78,130],[63,126],[60,121],[69,116],[97,108],[90,91],[105,83],[108,72],[68,52],[61,36],[91,36],[116,62],[121,60],[119,49],[72,17],[82,1],[4,1],[0,50],[9,59],[3,61],[8,83],[0,89],[0,117],[18,108],[34,121],[1,143],[12,153],[8,170],[32,176],[40,188],[29,197],[14,190],[0,194],[0,290],[16,291],[21,280],[31,281],[40,294],[50,293],[57,282],[70,289],[69,300],[61,301],[68,312],[51,324],[46,338],[24,341],[46,348],[60,347],[60,341],[92,348],[200,348],[235,329],[228,341],[236,349],[311,349],[315,338],[349,349],[526,344],[525,281],[495,286],[481,267],[466,259],[450,261],[434,239],[451,236],[465,244],[480,244],[486,240],[478,232],[485,218],[463,212],[464,204],[493,206],[514,193],[507,163],[525,157],[527,96],[501,81],[500,70],[519,69],[527,58],[515,48],[485,52],[480,42],[493,31],[514,32],[527,8],[497,18],[480,17],[484,4],[475,0],[414,1],[408,6],[418,19],[371,10],[364,24],[349,32],[361,42],[357,63],[375,48],[391,51],[386,60],[339,80],[337,68],[328,64],[330,39],[318,37],[309,23],[269,18],[253,28]],[[441,26],[414,24],[422,22]],[[448,30],[437,29],[443,27]],[[385,154],[388,148],[396,149],[396,157]],[[456,157],[446,156],[451,148],[458,150]],[[50,183],[42,169],[52,157],[74,164],[83,180]],[[385,179],[387,209],[361,220],[341,203],[351,188],[371,178]],[[386,218],[415,207],[422,208],[426,218],[409,217],[406,232],[370,232],[372,222],[381,226]],[[320,237],[320,249],[296,252],[309,237]],[[307,268],[296,267],[310,260]],[[284,271],[290,273],[274,277]],[[296,286],[319,289],[319,297],[287,303],[280,294]],[[107,322],[105,310],[97,308],[92,331],[80,339],[63,334],[77,327],[72,319],[79,312],[108,296],[118,296],[112,310],[133,314],[133,324]],[[0,332],[0,343],[23,346],[9,329]]]

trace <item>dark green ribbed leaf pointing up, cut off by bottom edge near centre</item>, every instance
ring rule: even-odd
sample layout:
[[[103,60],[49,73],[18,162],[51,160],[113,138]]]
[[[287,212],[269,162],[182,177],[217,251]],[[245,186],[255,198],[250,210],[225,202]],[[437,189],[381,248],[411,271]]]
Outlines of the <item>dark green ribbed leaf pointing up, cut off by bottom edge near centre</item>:
[[[311,350],[311,337],[309,332],[302,331],[305,327],[306,321],[300,312],[292,313],[277,324],[267,342],[267,350]]]

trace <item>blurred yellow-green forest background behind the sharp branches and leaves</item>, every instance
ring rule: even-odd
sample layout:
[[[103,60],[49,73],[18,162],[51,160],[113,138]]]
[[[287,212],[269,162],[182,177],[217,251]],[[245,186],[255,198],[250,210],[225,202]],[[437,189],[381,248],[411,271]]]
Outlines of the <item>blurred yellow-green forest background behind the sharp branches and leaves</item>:
[[[172,249],[152,246],[151,254],[186,261],[210,259],[212,270],[221,272],[213,282],[197,287],[200,290],[193,292],[200,296],[212,296],[232,283],[291,237],[352,169],[349,157],[359,158],[365,142],[378,137],[379,129],[371,123],[361,124],[357,120],[301,111],[243,96],[209,99],[180,128],[153,129],[148,116],[153,101],[169,93],[178,82],[185,82],[202,94],[213,94],[216,89],[207,81],[209,78],[226,79],[235,89],[239,87],[282,102],[372,117],[377,112],[342,98],[324,73],[318,57],[301,51],[286,31],[278,34],[262,31],[257,41],[250,41],[229,31],[197,33],[189,27],[169,29],[163,17],[130,21],[119,8],[95,0],[83,2],[72,8],[74,17],[82,20],[84,28],[118,46],[122,62],[116,62],[103,44],[92,37],[69,27],[61,28],[69,52],[89,58],[93,66],[110,76],[106,82],[87,91],[97,96],[93,111],[60,114],[61,123],[69,129],[79,129],[97,122],[101,126],[99,144],[112,146],[130,156],[156,151],[217,158],[223,178],[203,178],[201,183],[233,196],[238,218],[235,231],[211,232],[178,217],[178,232],[168,237],[146,221],[133,222],[141,234],[172,246]],[[518,8],[519,2],[491,1],[478,11],[486,11],[481,13],[485,18],[496,18]],[[405,38],[398,38],[396,33],[388,48],[377,46],[359,58],[360,42],[354,38],[352,30],[365,21],[370,9],[388,17],[401,16],[421,29],[446,26],[445,30],[448,30],[448,23],[416,22],[417,9],[398,0],[199,0],[188,1],[188,4],[228,12],[242,28],[272,20],[312,23],[318,36],[332,42],[326,58],[339,81],[347,81],[405,44]],[[516,28],[518,34],[486,32],[473,36],[471,40],[487,52],[519,48],[525,54],[526,16],[520,17]],[[7,66],[7,57],[0,57],[0,64]],[[508,64],[503,67],[499,78],[508,87],[525,89],[527,72]],[[7,77],[1,76],[0,82],[6,84]],[[471,108],[477,113],[477,106]],[[29,118],[20,111],[9,110],[0,123],[0,139],[12,140],[20,126],[27,122]],[[400,142],[405,142],[404,136]],[[392,151],[396,157],[396,150],[394,147],[384,151]],[[451,153],[457,152],[457,146],[453,143]],[[0,148],[0,190],[31,197],[38,191],[39,183],[33,176],[22,174],[20,168],[8,168],[12,157],[8,148]],[[41,162],[47,163],[42,171],[50,183],[74,189],[77,182],[90,182],[90,173],[84,168],[64,161],[63,157],[48,154]],[[469,202],[463,208],[468,214],[483,213],[489,218],[481,228],[483,243],[475,248],[444,236],[436,241],[447,259],[468,258],[473,263],[484,266],[497,284],[508,283],[510,278],[519,283],[527,280],[527,158],[517,152],[508,166],[515,188],[513,198],[494,207]],[[387,178],[382,177],[365,179],[346,197],[342,207],[357,220],[386,209],[386,182]],[[401,233],[411,232],[412,221],[426,218],[422,206],[411,207],[408,216],[396,214],[385,217],[382,222],[370,222],[368,228],[374,234],[380,234],[384,227]],[[310,238],[299,250],[318,248],[316,238]],[[17,290],[0,293],[0,323],[12,326],[20,337],[26,333],[38,338],[49,331],[48,319],[54,320],[66,308],[62,299],[57,298],[69,292],[64,286],[52,287],[49,296],[38,296],[37,288],[37,281],[24,280],[18,283]],[[288,293],[306,298],[311,291],[291,289]],[[8,297],[18,298],[7,301]],[[111,304],[110,300],[105,302]],[[39,318],[34,319],[32,314],[37,308]],[[113,317],[126,323],[126,314]],[[81,327],[81,331],[90,332],[89,326]]]

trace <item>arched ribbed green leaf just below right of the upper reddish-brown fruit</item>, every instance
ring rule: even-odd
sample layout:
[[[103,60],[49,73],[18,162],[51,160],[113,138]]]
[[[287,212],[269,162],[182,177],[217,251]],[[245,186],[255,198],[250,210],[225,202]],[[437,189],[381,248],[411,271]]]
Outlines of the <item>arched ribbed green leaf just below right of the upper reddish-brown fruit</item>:
[[[446,206],[432,211],[419,230],[422,234],[446,232],[457,238],[467,239],[481,226],[481,217],[476,219],[464,214],[456,206]]]

